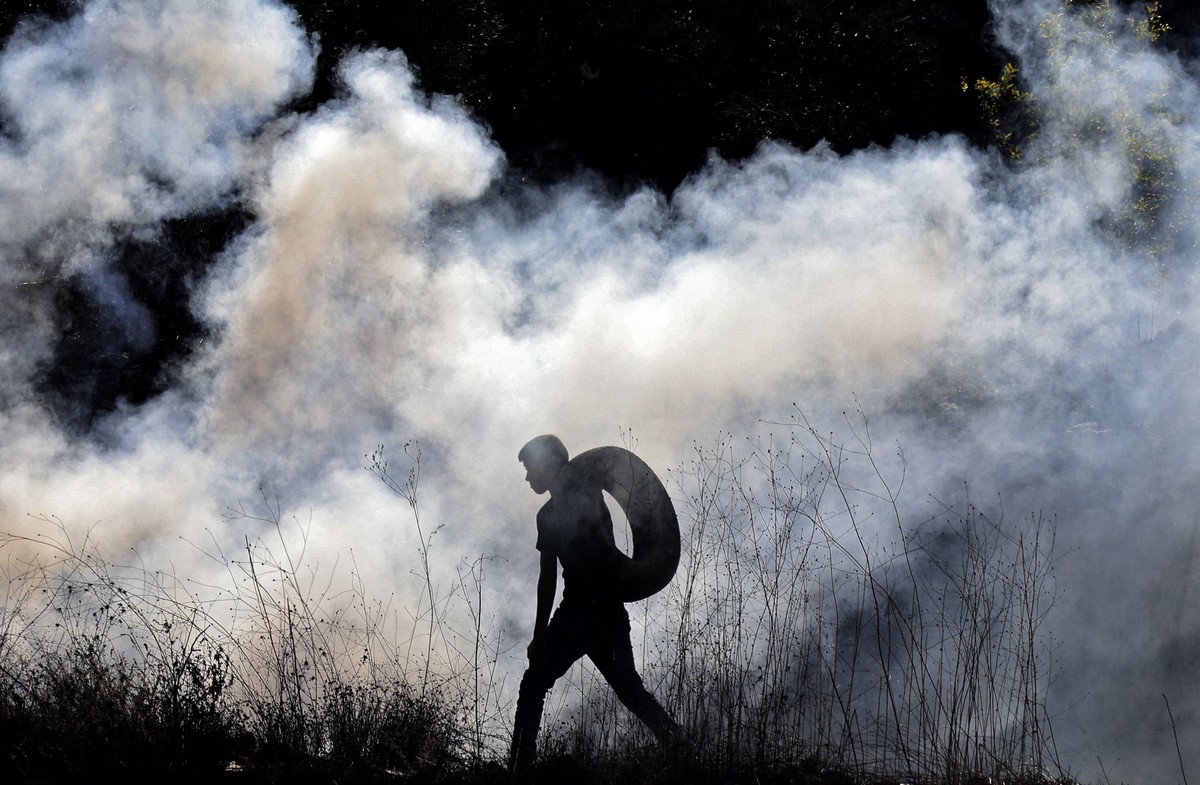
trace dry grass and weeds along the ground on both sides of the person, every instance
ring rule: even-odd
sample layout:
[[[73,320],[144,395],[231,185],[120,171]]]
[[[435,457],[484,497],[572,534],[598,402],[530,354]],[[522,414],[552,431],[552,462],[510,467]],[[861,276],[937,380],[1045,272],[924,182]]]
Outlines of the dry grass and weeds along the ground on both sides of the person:
[[[407,448],[407,474],[382,449],[367,467],[419,543],[403,607],[306,559],[307,531],[269,493],[230,509],[264,534],[236,552],[210,538],[206,576],[114,563],[49,519],[35,539],[0,538],[0,775],[1061,779],[1044,701],[1052,525],[991,517],[965,496],[906,511],[902,455],[880,455],[862,415],[845,427],[840,445],[797,415],[772,443],[697,445],[673,473],[683,563],[631,610],[643,677],[685,729],[677,750],[583,669],[552,694],[538,768],[502,768],[512,706],[498,673],[521,666],[522,646],[497,627],[506,600],[486,558],[449,585],[431,571]]]

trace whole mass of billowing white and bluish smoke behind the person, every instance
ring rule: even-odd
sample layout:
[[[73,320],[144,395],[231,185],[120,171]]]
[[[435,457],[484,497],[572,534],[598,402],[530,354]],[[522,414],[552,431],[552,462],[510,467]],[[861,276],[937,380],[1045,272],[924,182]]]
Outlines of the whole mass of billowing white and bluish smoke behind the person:
[[[254,523],[221,511],[265,484],[313,558],[353,552],[403,603],[415,533],[362,456],[415,438],[436,569],[499,557],[521,637],[526,439],[634,439],[665,472],[793,402],[835,431],[858,401],[904,448],[914,507],[966,481],[1057,516],[1060,753],[1174,775],[1162,694],[1200,737],[1196,80],[1120,14],[1087,26],[1030,0],[996,18],[1037,101],[1025,164],[953,137],[768,144],[622,199],[509,182],[400,53],[349,56],[335,101],[286,114],[314,50],[269,0],[94,0],[18,29],[0,58],[0,529],[56,516],[203,575],[191,544],[236,546]],[[1172,174],[1151,210],[1156,162]],[[163,395],[62,430],[32,384],[53,282],[84,276],[112,329],[149,341],[116,244],[234,194],[254,221],[188,304],[211,340]],[[1123,230],[1139,216],[1153,226]]]

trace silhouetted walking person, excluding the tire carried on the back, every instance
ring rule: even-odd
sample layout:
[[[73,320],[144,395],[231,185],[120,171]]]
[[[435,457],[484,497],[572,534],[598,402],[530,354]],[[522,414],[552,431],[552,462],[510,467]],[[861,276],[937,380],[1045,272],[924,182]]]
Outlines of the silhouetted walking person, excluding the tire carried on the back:
[[[653,731],[660,743],[673,739],[679,726],[642,684],[629,641],[629,615],[612,587],[612,557],[617,546],[612,516],[594,484],[563,472],[568,453],[557,436],[539,436],[517,459],[535,493],[550,492],[538,510],[538,616],[529,643],[529,667],[521,679],[509,765],[523,768],[538,750],[538,729],[546,693],[571,665],[587,654],[620,702]],[[550,618],[563,564],[563,601]]]

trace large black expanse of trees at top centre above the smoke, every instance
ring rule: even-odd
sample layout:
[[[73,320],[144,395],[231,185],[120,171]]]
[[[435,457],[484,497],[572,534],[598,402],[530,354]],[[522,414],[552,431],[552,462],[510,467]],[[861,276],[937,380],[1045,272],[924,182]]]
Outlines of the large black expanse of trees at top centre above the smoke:
[[[764,139],[839,151],[985,130],[965,77],[991,73],[986,0],[294,0],[320,88],[349,49],[400,48],[461,96],[518,167],[584,166],[672,190],[709,150]]]

